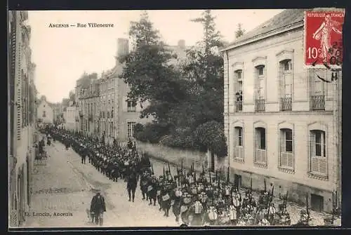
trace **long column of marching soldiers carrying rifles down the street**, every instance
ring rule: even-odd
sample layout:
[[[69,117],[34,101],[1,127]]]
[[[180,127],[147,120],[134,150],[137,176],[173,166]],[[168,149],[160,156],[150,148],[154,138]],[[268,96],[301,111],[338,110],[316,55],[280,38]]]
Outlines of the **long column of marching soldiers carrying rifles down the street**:
[[[218,172],[216,177],[211,177],[203,166],[202,172],[197,175],[194,164],[187,171],[183,168],[183,161],[175,175],[172,175],[168,163],[168,169],[164,168],[163,175],[157,177],[150,159],[146,154],[138,154],[133,142],[128,142],[127,145],[117,142],[105,145],[98,138],[62,128],[49,128],[46,133],[62,142],[66,149],[72,147],[80,156],[88,156],[89,163],[110,180],[124,180],[128,187],[129,184],[135,184],[131,186],[134,187],[134,192],[140,179],[143,200],[150,206],[158,204],[159,210],[166,217],[171,210],[177,222],[191,226],[291,225],[286,210],[288,192],[283,196],[283,203],[275,208],[272,203],[274,186],[267,190],[265,181],[265,189],[256,200],[252,192],[252,179],[250,188],[246,189],[243,196],[239,187],[230,183],[229,173],[226,180],[220,179]],[[136,180],[130,180],[133,175]],[[132,197],[134,201],[134,194]],[[308,225],[311,220],[310,210],[306,206],[305,210],[300,211],[298,224],[294,225]]]

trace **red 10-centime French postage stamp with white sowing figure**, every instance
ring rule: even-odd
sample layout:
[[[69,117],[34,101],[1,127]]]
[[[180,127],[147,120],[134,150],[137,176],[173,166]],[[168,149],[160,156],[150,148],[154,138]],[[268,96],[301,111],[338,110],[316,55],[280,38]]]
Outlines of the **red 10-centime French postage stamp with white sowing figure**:
[[[342,64],[344,16],[345,11],[305,12],[305,65]]]

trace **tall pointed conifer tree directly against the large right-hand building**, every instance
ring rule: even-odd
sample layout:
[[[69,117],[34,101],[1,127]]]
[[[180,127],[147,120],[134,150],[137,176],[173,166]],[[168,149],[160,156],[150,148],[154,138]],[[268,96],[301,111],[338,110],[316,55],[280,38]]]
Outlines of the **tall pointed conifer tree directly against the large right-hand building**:
[[[194,127],[211,120],[223,123],[223,58],[213,51],[213,48],[223,46],[223,41],[214,20],[211,10],[192,20],[200,22],[204,28],[203,39],[199,42],[204,48],[189,51],[182,69],[191,85],[188,102],[196,119]]]

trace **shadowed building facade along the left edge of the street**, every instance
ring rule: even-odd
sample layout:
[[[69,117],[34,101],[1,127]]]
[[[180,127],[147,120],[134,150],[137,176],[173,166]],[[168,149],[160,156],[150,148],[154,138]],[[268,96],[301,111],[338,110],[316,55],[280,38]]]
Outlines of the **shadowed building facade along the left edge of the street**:
[[[25,222],[32,194],[34,142],[37,140],[35,65],[29,48],[27,11],[8,11],[8,212],[10,227]]]

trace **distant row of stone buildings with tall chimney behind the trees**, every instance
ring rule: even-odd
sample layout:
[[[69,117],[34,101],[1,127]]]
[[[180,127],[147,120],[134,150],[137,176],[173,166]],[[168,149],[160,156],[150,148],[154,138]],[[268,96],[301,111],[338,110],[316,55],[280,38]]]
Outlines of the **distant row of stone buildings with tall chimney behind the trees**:
[[[130,87],[118,77],[123,69],[118,58],[128,54],[128,43],[128,39],[117,39],[116,65],[110,71],[100,77],[84,74],[77,81],[76,100],[64,114],[65,128],[104,137],[106,142],[112,142],[114,138],[124,142],[133,137],[135,123],[151,121],[151,118],[140,119],[142,105],[128,100]],[[186,57],[184,40],[180,40],[178,46],[166,46],[166,49],[176,55],[170,61],[175,65]]]

